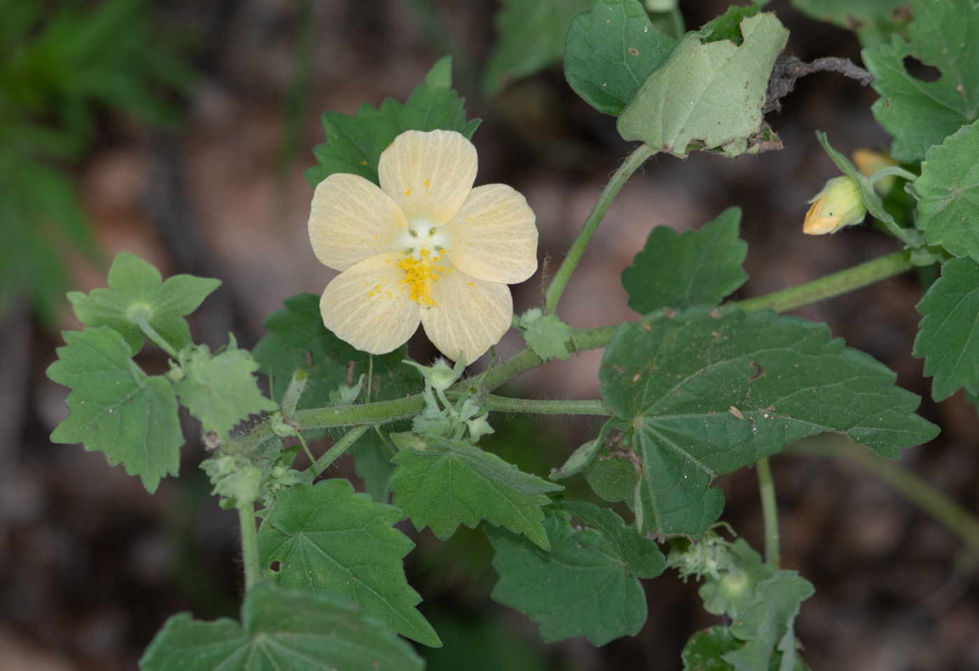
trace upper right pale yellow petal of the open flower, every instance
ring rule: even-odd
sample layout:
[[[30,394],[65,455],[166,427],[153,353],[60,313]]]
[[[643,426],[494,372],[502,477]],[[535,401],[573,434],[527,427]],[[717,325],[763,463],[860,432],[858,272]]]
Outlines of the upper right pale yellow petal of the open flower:
[[[462,272],[488,282],[523,282],[537,269],[537,227],[527,200],[505,184],[469,192],[445,226],[448,258]]]

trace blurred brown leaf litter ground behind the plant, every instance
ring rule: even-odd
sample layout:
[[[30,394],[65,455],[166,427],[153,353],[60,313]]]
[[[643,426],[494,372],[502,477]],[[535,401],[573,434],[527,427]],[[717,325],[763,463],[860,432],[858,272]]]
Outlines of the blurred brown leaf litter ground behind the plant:
[[[312,3],[315,52],[311,94],[296,159],[276,171],[283,109],[299,39],[297,4],[287,0],[174,0],[166,18],[195,35],[202,72],[175,132],[151,131],[113,114],[102,118],[97,149],[78,171],[85,207],[106,258],[130,250],[157,264],[164,277],[192,272],[224,286],[192,320],[211,347],[227,333],[242,346],[263,335],[261,320],[301,291],[322,291],[333,271],[313,257],[305,233],[311,189],[302,170],[322,142],[319,113],[352,113],[361,102],[404,100],[443,55],[425,38],[415,2],[324,0]],[[588,108],[559,68],[521,80],[502,95],[478,95],[478,70],[495,40],[489,0],[439,0],[434,5],[465,45],[455,77],[470,116],[484,123],[474,141],[478,183],[504,182],[534,207],[541,258],[556,260],[574,239],[617,161],[629,151],[615,120]],[[688,27],[726,9],[723,0],[681,2]],[[769,10],[790,29],[788,53],[810,61],[844,56],[859,63],[853,33],[809,21],[776,0]],[[799,81],[769,119],[785,143],[761,157],[658,157],[613,204],[592,249],[572,279],[560,312],[575,327],[634,319],[619,275],[658,225],[696,228],[725,207],[744,209],[750,244],[748,283],[737,297],[797,285],[887,253],[896,246],[869,226],[839,235],[801,233],[805,201],[836,174],[816,143],[829,133],[849,154],[885,148],[888,138],[869,106],[876,95],[835,74]],[[281,162],[281,161],[280,161]],[[108,266],[73,268],[76,289],[105,286]],[[540,298],[539,274],[515,288],[518,311]],[[796,314],[829,323],[834,336],[897,371],[898,383],[924,396],[920,412],[943,426],[932,443],[908,450],[902,463],[979,512],[979,421],[961,393],[941,404],[928,397],[922,362],[910,356],[920,295],[912,275]],[[61,328],[78,328],[70,311]],[[101,454],[52,445],[64,417],[66,389],[44,378],[60,336],[32,324],[23,309],[2,324],[0,350],[0,669],[62,671],[133,669],[169,614],[234,615],[242,589],[237,519],[209,496],[197,468],[203,450],[182,449],[180,479],[165,478],[149,496],[137,478],[106,467]],[[521,346],[511,333],[501,355]],[[434,350],[415,337],[414,356]],[[159,350],[141,362],[165,371]],[[600,352],[552,361],[510,387],[537,397],[594,398]],[[198,426],[184,417],[188,436]],[[599,423],[552,419],[536,431],[522,417],[497,417],[489,446],[523,470],[545,475]],[[328,443],[314,449],[322,451]],[[773,460],[782,519],[784,567],[816,585],[803,605],[797,633],[818,669],[979,668],[979,589],[975,560],[937,522],[855,464],[816,457]],[[362,489],[349,458],[331,476]],[[761,549],[762,519],[755,473],[720,479],[730,521]],[[585,498],[581,476],[571,498]],[[649,619],[634,639],[594,649],[583,639],[544,647],[526,617],[489,602],[495,573],[482,531],[461,528],[447,543],[429,530],[399,525],[416,543],[407,557],[420,608],[445,648],[430,654],[439,669],[678,669],[679,650],[697,629],[718,623],[703,610],[697,585],[676,572],[645,583]]]

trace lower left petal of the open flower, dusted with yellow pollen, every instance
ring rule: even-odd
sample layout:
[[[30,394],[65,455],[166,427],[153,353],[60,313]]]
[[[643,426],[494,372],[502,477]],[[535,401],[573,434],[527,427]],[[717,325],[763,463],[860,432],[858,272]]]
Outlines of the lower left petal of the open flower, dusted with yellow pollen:
[[[418,329],[418,303],[408,298],[399,254],[375,254],[326,286],[319,301],[323,324],[342,340],[371,354],[387,354]]]

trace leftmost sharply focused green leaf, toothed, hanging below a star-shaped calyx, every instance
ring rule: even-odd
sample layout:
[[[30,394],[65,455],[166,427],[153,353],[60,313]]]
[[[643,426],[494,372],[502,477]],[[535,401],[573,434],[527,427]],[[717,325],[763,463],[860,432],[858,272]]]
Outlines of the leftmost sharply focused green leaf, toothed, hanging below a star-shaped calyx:
[[[143,373],[109,327],[62,336],[68,346],[58,348],[47,375],[71,387],[71,414],[51,434],[52,442],[105,452],[110,466],[123,463],[152,494],[161,477],[180,467],[183,433],[169,380]]]

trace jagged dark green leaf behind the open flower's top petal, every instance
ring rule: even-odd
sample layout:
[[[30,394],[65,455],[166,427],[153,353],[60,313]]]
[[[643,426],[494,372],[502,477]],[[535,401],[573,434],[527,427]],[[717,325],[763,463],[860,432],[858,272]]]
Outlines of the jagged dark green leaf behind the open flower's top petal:
[[[472,138],[480,119],[466,121],[464,102],[452,89],[452,59],[446,56],[404,105],[387,98],[380,110],[365,103],[355,116],[323,112],[326,143],[313,148],[318,164],[306,168],[305,178],[315,187],[335,172],[350,172],[377,184],[381,153],[406,130],[454,130]]]

